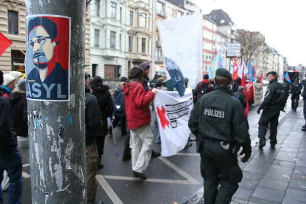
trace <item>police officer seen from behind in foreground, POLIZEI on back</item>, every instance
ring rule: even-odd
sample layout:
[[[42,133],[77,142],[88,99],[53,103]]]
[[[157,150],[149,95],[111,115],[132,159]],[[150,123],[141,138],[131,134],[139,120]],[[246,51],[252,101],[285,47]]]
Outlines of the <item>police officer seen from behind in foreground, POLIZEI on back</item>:
[[[201,175],[204,178],[206,204],[230,203],[242,180],[237,151],[240,145],[248,161],[251,155],[248,122],[240,101],[230,94],[231,73],[218,68],[215,91],[198,100],[188,126],[200,142]],[[220,187],[218,188],[220,184]]]

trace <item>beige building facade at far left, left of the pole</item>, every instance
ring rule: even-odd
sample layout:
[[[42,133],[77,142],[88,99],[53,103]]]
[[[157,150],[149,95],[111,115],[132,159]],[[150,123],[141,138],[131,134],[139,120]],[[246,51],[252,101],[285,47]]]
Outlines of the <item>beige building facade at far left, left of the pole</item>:
[[[0,57],[0,69],[4,73],[24,73],[25,53],[25,3],[24,0],[0,1],[0,32],[11,44]]]

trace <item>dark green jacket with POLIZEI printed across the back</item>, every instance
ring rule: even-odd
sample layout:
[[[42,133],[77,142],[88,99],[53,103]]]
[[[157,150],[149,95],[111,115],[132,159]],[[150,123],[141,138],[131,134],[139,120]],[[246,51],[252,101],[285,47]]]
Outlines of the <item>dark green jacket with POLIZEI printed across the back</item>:
[[[216,86],[198,100],[188,121],[191,132],[201,138],[238,142],[250,148],[248,121],[240,101],[226,87]]]

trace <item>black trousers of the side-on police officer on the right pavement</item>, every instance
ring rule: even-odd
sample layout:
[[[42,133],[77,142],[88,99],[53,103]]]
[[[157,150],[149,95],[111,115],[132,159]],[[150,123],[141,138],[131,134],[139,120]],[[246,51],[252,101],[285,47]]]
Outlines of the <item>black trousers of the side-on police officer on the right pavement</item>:
[[[258,137],[260,144],[266,144],[266,132],[268,124],[270,123],[270,144],[275,145],[277,143],[277,125],[278,116],[281,108],[279,106],[269,106],[267,109],[263,110],[263,113],[259,119],[258,127]]]

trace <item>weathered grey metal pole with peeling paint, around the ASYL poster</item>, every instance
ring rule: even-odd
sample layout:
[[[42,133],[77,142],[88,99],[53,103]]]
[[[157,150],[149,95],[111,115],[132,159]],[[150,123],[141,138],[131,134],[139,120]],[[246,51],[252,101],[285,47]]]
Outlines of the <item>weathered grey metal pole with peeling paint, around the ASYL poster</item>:
[[[29,16],[32,18],[32,15],[59,15],[71,18],[71,41],[70,46],[66,45],[70,50],[70,55],[67,55],[67,59],[70,58],[70,67],[67,65],[70,73],[69,100],[28,99],[32,203],[86,203],[83,70],[85,1],[25,0],[25,11],[28,19]],[[59,33],[61,29],[64,28],[57,29]],[[44,39],[44,44],[48,42],[48,38]],[[34,46],[44,45],[38,38],[36,41],[35,38],[30,39],[33,40]],[[61,38],[57,43],[67,41],[69,37]],[[60,49],[60,46],[57,47],[56,49]],[[56,52],[59,50],[54,50],[55,56]],[[28,48],[27,55],[31,56]],[[59,58],[61,57],[56,56],[55,60]],[[26,67],[28,68],[30,67]],[[27,80],[27,94],[28,83]],[[42,86],[38,89],[40,88]]]

